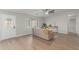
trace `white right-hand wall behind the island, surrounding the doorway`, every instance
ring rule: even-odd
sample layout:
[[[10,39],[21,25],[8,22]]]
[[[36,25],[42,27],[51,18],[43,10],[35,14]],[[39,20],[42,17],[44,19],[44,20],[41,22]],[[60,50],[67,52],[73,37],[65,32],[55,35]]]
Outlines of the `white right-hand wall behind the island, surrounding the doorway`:
[[[54,15],[50,15],[45,18],[45,22],[47,24],[56,25],[59,27],[59,33],[68,33],[68,23],[69,23],[69,15],[76,15],[76,33],[79,35],[79,10],[70,10],[66,12],[55,13]]]

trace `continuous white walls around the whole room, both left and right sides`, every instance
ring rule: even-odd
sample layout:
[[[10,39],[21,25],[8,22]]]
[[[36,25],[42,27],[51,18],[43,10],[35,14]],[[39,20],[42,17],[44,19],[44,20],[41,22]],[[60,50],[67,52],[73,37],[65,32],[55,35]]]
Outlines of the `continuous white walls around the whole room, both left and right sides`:
[[[74,12],[75,13],[75,12]],[[25,35],[32,33],[31,29],[27,29],[25,27],[26,20],[28,19],[39,19],[39,26],[41,27],[43,22],[46,22],[47,24],[52,24],[58,26],[58,32],[59,33],[68,33],[68,15],[74,14],[73,11],[69,11],[67,13],[55,13],[54,15],[50,15],[49,17],[45,18],[39,18],[39,17],[33,17],[26,14],[18,14],[18,13],[12,13],[12,12],[4,12],[0,10],[0,14],[9,14],[9,15],[15,15],[16,16],[16,34],[17,35]],[[77,11],[76,13],[79,13]],[[1,24],[1,23],[0,23]],[[77,16],[76,21],[76,32],[79,34],[79,15]]]

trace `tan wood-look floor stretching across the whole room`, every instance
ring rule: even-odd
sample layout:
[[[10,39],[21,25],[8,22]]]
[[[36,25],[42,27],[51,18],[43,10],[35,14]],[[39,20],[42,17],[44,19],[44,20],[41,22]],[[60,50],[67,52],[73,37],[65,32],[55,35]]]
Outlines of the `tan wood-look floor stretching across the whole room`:
[[[0,50],[79,50],[79,37],[76,35],[55,34],[46,41],[28,35],[0,41]]]

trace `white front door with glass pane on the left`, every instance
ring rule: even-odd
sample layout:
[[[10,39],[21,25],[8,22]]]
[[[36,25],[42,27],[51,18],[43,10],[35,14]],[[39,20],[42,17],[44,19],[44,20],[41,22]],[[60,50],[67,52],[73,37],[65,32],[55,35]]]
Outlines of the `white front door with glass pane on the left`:
[[[3,37],[11,38],[16,35],[16,17],[5,15],[3,19]]]

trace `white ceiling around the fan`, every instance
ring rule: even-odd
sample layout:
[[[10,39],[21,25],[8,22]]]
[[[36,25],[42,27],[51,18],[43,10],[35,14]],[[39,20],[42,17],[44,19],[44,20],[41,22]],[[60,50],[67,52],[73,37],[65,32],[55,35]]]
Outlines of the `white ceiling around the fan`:
[[[3,11],[14,12],[14,13],[22,13],[28,14],[32,16],[44,17],[47,16],[42,11],[43,9],[3,9]],[[55,13],[63,12],[63,11],[79,11],[78,9],[55,9]]]

